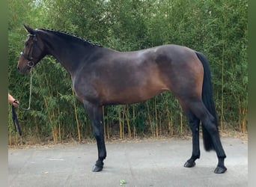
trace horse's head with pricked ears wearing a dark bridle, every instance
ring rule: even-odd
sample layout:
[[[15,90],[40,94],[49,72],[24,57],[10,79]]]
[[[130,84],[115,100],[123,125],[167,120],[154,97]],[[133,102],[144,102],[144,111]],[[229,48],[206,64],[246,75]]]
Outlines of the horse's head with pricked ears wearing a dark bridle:
[[[43,41],[38,37],[37,29],[24,25],[28,31],[25,45],[20,52],[17,68],[22,73],[28,73],[46,54],[44,52]]]

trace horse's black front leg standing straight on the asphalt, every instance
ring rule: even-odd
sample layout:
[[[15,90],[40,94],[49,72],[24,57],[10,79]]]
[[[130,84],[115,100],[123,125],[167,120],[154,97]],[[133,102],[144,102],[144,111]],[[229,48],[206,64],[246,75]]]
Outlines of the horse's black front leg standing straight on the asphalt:
[[[84,102],[85,108],[88,111],[88,116],[91,120],[94,137],[97,141],[98,159],[92,171],[98,172],[103,170],[103,159],[106,159],[106,146],[104,141],[104,124],[103,124],[103,107],[94,105],[91,102]]]

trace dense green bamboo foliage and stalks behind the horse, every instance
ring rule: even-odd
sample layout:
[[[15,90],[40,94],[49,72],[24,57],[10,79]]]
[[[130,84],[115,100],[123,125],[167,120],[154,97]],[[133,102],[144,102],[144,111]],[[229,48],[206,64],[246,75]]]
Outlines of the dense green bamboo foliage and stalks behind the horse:
[[[23,106],[28,105],[30,76],[18,73],[16,62],[25,40],[26,32],[21,25],[25,23],[68,31],[120,51],[166,43],[201,51],[210,61],[219,129],[247,132],[247,1],[8,2],[9,91]],[[61,64],[46,57],[33,73],[31,111],[17,109],[23,136],[13,132],[9,114],[9,144],[24,144],[29,139],[61,142],[93,138],[85,108],[77,101],[70,76]],[[191,133],[177,99],[168,92],[142,103],[106,105],[103,114],[106,139]]]

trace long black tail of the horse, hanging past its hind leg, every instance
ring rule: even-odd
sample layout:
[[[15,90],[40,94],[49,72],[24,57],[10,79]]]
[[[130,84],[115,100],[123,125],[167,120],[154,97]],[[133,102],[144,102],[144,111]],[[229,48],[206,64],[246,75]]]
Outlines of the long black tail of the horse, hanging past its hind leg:
[[[207,110],[210,112],[210,114],[213,115],[216,127],[218,129],[218,118],[216,114],[215,104],[213,101],[213,87],[211,82],[210,66],[208,64],[207,58],[201,52],[195,52],[195,53],[204,67],[202,100]],[[210,137],[210,133],[207,131],[207,129],[205,129],[204,123],[202,123],[202,132],[203,132],[204,149],[207,151],[214,150],[212,138]]]

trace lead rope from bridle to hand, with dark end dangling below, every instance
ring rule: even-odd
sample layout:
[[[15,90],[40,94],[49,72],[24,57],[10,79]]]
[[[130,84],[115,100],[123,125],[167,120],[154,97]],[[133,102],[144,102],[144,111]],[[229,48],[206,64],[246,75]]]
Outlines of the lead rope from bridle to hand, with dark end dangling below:
[[[32,69],[31,69],[31,74],[30,74],[30,89],[29,89],[29,100],[28,100],[28,108],[22,108],[20,105],[19,105],[19,108],[21,108],[22,110],[24,111],[29,111],[30,110],[30,105],[31,105],[31,93],[32,93]],[[17,103],[17,100],[14,100],[13,102]],[[14,130],[15,132],[19,132],[19,135],[21,136],[22,135],[22,132],[21,132],[21,129],[20,129],[20,126],[19,126],[19,120],[17,118],[17,115],[16,115],[16,111],[15,111],[15,106],[11,105],[11,111],[12,111],[12,118],[13,118],[13,125],[14,125]]]

